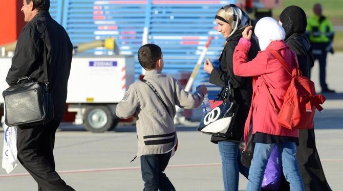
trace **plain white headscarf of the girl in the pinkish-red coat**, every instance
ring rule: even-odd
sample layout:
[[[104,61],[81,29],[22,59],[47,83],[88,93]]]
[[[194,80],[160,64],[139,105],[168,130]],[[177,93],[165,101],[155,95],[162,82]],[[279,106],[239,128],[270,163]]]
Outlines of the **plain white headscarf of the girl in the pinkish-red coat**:
[[[261,51],[266,50],[271,41],[284,40],[284,28],[272,17],[261,18],[255,26],[255,35],[259,38]]]

